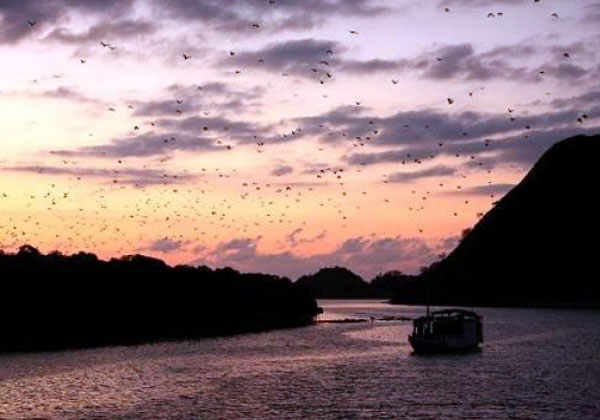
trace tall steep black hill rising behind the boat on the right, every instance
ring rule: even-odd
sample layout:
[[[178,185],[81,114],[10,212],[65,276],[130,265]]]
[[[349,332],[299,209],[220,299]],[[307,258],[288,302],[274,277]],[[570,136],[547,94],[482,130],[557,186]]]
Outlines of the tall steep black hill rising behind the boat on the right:
[[[600,136],[552,146],[458,247],[396,302],[600,306]]]

